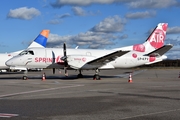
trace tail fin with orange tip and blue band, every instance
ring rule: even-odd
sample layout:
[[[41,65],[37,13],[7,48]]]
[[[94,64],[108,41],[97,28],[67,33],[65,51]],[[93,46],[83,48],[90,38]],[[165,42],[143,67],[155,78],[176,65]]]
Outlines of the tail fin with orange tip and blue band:
[[[36,37],[36,39],[34,39],[34,41],[29,45],[28,48],[46,47],[49,32],[49,30],[42,30],[41,33]]]

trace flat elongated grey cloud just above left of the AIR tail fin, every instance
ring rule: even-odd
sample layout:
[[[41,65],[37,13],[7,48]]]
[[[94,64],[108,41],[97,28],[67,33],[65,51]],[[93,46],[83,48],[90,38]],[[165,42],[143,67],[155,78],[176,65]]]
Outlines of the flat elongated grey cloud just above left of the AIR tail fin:
[[[135,13],[128,13],[125,15],[128,19],[142,19],[142,18],[150,18],[156,15],[155,11],[145,11],[145,12],[135,12]]]

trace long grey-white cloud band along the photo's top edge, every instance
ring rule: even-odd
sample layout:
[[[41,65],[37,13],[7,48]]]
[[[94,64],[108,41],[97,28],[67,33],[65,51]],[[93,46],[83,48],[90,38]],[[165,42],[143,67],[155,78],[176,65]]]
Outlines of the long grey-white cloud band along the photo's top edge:
[[[167,8],[179,6],[178,0],[56,0],[51,4],[54,8],[62,6],[88,6],[92,4],[127,4],[130,8]]]

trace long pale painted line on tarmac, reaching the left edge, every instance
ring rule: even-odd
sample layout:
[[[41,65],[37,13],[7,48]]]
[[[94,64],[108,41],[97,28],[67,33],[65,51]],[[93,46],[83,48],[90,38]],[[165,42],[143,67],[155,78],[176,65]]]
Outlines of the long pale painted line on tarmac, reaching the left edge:
[[[80,86],[84,86],[84,85],[71,85],[71,86],[63,86],[63,87],[55,87],[55,88],[48,88],[48,89],[40,89],[40,90],[33,90],[33,91],[12,93],[12,94],[0,95],[0,98],[3,98],[3,97],[11,97],[11,96],[16,96],[16,95],[23,95],[23,94],[29,94],[29,93],[44,92],[44,91],[50,91],[50,90],[57,90],[57,89],[80,87]]]

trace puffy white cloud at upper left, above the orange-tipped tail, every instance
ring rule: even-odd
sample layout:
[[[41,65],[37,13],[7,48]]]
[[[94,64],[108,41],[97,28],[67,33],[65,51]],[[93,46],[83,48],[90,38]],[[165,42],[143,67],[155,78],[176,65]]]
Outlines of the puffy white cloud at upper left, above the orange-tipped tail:
[[[36,16],[39,16],[40,14],[41,14],[41,12],[35,8],[21,7],[21,8],[17,8],[14,10],[10,10],[7,17],[30,20]]]

